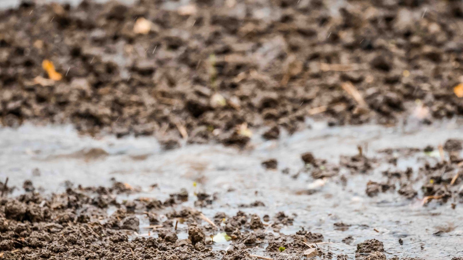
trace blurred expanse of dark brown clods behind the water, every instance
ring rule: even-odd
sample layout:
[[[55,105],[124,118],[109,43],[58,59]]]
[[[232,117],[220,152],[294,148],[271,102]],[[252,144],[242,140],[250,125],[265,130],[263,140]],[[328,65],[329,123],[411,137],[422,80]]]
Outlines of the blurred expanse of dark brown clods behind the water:
[[[330,3],[198,0],[167,10],[159,0],[28,1],[0,11],[0,122],[154,134],[171,149],[180,138],[244,146],[247,128],[263,126],[264,138],[278,138],[313,108],[330,125],[395,124],[418,99],[425,122],[463,114],[453,93],[462,74],[458,1]],[[140,18],[151,22],[146,34],[133,31]],[[62,80],[43,79],[45,59]]]

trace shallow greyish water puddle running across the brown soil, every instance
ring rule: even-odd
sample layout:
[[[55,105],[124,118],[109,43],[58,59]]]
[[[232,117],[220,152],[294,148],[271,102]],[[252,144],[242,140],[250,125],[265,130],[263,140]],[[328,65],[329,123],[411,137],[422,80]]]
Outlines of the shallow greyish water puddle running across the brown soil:
[[[460,246],[463,210],[459,205],[451,209],[450,203],[431,202],[423,207],[421,192],[411,200],[391,192],[373,198],[365,194],[369,180],[384,178],[381,172],[390,167],[387,164],[375,166],[366,175],[344,173],[345,169],[341,168],[342,175],[347,176],[344,186],[338,176],[317,184],[307,174],[295,174],[303,167],[300,154],[307,151],[317,158],[339,163],[340,155],[355,155],[359,144],[371,157],[382,156],[378,151],[387,148],[423,149],[461,136],[459,122],[412,129],[377,125],[329,128],[324,123],[308,123],[311,129],[284,136],[279,141],[263,141],[256,134],[251,141],[255,148],[250,151],[214,144],[162,151],[150,137],[93,138],[77,134],[71,126],[25,124],[18,129],[0,130],[0,179],[9,177],[9,184],[18,187],[14,194],[22,192],[24,180],[32,180],[45,193],[63,191],[66,181],[74,186],[110,186],[111,178],[141,189],[135,195],[119,195],[120,201],[136,197],[163,200],[181,188],[186,188],[190,196],[207,192],[217,197],[212,205],[200,209],[207,217],[212,218],[220,211],[234,215],[242,210],[260,217],[284,211],[294,217],[294,225],[279,232],[294,234],[301,228],[319,232],[324,235],[324,241],[331,242],[319,247],[351,258],[356,244],[371,238],[384,242],[388,257],[444,259],[463,254]],[[277,159],[277,170],[261,166],[261,162],[269,158]],[[434,155],[423,159],[421,154],[399,157],[396,169],[417,169],[420,160],[437,162],[440,159]],[[288,174],[282,173],[285,168]],[[421,184],[414,185],[419,190]],[[246,206],[255,201],[265,206]],[[181,204],[185,206],[195,207],[193,201]],[[139,235],[156,235],[144,229],[149,226],[146,217],[143,214],[139,217],[142,228]],[[335,223],[344,223],[346,227],[339,229]],[[187,236],[187,229],[186,225],[178,227],[179,238]],[[266,232],[274,231],[267,229]],[[348,236],[353,238],[350,245],[342,241]],[[215,245],[219,249],[227,246],[227,243]],[[264,254],[263,248],[253,250]]]

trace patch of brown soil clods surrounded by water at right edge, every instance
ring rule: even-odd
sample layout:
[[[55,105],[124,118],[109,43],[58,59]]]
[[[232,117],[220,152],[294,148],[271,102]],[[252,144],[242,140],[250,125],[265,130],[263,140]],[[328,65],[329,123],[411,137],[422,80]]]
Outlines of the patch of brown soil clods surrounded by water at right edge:
[[[349,175],[359,173],[377,173],[378,167],[382,176],[365,182],[365,194],[375,197],[380,193],[397,193],[404,198],[421,200],[422,205],[436,200],[443,204],[452,201],[452,208],[463,202],[462,149],[461,141],[448,139],[441,152],[431,146],[424,150],[417,148],[382,149],[375,157],[362,155],[341,155],[339,165],[326,164],[317,160],[317,168],[304,166],[299,173],[310,172],[313,179],[330,178],[339,180],[343,186],[349,181]],[[311,155],[312,156],[312,155]],[[313,157],[313,156],[312,156]],[[450,159],[450,160],[447,160]],[[398,161],[413,163],[416,167],[399,167]],[[340,171],[348,170],[349,174],[339,176]]]

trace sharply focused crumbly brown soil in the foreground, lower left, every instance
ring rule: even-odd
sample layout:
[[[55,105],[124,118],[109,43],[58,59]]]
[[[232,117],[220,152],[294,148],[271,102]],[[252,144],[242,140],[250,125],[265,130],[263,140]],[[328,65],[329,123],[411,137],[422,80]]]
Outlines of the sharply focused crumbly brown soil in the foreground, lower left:
[[[26,183],[30,190],[33,184]],[[292,225],[293,219],[283,212],[264,217],[271,220],[271,227],[264,226],[256,214],[238,211],[235,216],[227,216],[218,212],[213,218],[219,224],[217,229],[203,222],[198,210],[182,207],[185,200],[177,199],[181,198],[177,194],[164,202],[137,198],[120,204],[114,198],[121,192],[137,194],[135,189],[115,182],[110,188],[68,188],[46,198],[27,191],[17,198],[2,198],[0,257],[5,260],[255,260],[251,256],[253,248],[263,247],[265,254],[274,260],[296,260],[308,248],[316,248],[307,244],[324,241],[322,234],[304,229],[292,235],[275,236],[283,225]],[[113,214],[107,213],[110,207],[116,209]],[[161,215],[167,220],[161,221]],[[140,230],[143,216],[149,218],[152,230]],[[187,227],[177,228],[179,221]],[[268,228],[273,232],[265,232]],[[142,233],[146,231],[148,234]],[[217,232],[226,232],[232,239],[227,250],[213,249],[210,238]],[[179,239],[181,233],[187,233],[188,239]],[[284,252],[280,253],[283,247]],[[329,250],[316,250],[320,259],[334,257]],[[383,254],[375,251],[384,251],[381,241],[373,239],[357,244],[359,257],[382,259],[377,257]],[[338,259],[343,258],[338,256]]]

